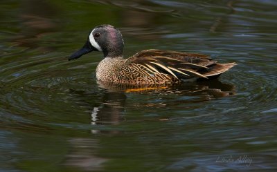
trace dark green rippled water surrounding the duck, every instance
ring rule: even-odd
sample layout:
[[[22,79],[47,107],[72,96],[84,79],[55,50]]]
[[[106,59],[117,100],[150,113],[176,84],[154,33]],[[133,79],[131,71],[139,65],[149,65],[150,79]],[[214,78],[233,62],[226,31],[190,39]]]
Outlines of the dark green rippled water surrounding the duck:
[[[0,171],[277,171],[277,1],[0,2]],[[157,48],[238,65],[142,93],[100,88],[102,23],[125,57]]]

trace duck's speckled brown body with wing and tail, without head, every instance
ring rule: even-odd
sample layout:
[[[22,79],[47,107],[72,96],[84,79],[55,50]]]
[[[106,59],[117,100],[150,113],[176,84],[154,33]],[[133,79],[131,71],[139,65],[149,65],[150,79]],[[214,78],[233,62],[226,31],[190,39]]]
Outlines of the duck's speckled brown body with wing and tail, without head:
[[[174,75],[159,65],[168,68]],[[165,85],[179,83],[181,79],[219,75],[234,65],[234,63],[217,64],[216,61],[199,54],[143,50],[128,59],[106,57],[96,68],[96,78],[100,82],[118,84]]]

